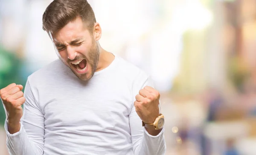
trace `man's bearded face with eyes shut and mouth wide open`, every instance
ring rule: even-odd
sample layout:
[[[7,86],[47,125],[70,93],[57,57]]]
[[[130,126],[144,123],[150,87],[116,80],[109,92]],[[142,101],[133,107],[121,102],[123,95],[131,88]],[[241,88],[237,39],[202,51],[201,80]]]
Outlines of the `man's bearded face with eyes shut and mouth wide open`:
[[[93,77],[99,62],[99,45],[81,18],[68,23],[53,37],[61,60],[81,80]]]

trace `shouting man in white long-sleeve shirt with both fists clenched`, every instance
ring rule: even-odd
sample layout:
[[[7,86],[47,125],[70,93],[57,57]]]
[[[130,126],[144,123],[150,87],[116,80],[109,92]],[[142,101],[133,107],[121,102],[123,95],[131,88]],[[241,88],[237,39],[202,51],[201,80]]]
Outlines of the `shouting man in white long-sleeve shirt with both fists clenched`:
[[[43,29],[60,60],[30,75],[24,96],[15,83],[0,90],[9,153],[163,155],[159,92],[144,72],[102,49],[87,0],[54,0]]]

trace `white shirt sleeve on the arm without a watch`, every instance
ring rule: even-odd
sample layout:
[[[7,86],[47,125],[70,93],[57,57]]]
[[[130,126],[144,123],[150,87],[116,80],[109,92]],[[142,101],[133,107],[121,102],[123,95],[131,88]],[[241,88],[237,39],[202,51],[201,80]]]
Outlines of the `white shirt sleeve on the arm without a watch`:
[[[10,134],[5,122],[6,145],[10,155],[43,155],[44,150],[44,115],[29,85],[24,90],[23,116],[20,121],[20,131]]]

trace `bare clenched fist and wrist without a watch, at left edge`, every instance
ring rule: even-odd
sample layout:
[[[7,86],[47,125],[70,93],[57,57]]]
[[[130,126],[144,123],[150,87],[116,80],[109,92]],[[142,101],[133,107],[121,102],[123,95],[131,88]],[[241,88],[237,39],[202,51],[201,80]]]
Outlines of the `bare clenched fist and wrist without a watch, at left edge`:
[[[16,131],[20,128],[20,118],[23,115],[21,105],[25,103],[22,89],[23,86],[12,83],[0,90],[0,98],[6,108],[8,128],[11,131]]]

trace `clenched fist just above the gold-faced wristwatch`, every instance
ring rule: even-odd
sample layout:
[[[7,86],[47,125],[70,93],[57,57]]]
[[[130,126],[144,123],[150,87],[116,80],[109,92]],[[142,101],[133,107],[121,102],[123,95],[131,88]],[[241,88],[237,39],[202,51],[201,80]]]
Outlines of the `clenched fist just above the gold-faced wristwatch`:
[[[150,86],[145,86],[135,98],[134,106],[140,119],[144,123],[154,123],[160,115],[159,92]]]

